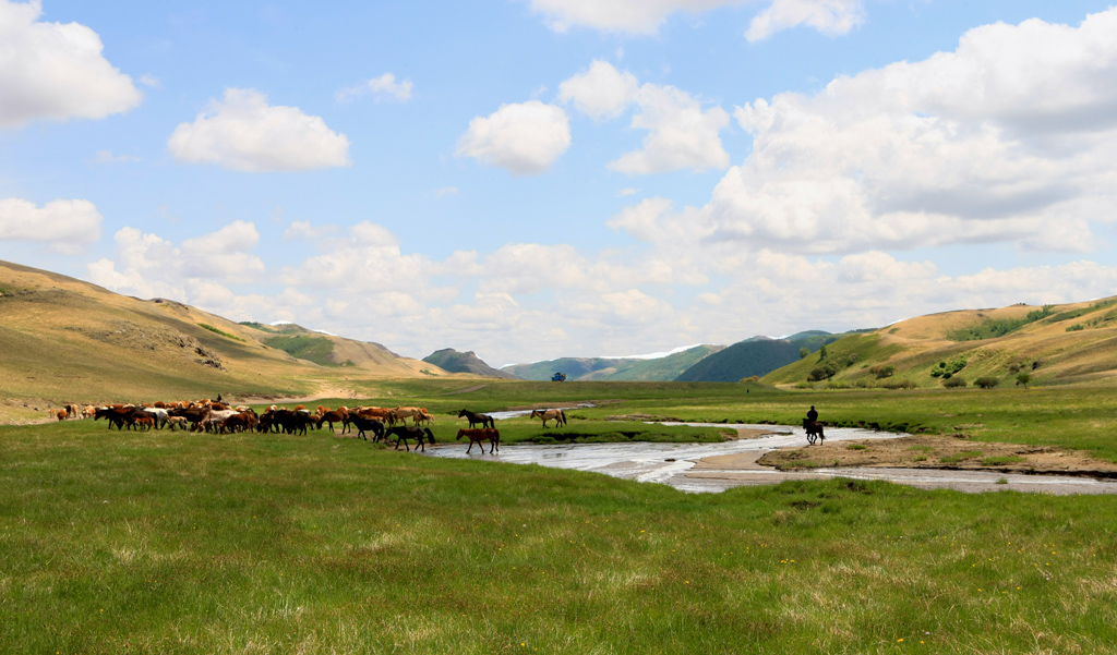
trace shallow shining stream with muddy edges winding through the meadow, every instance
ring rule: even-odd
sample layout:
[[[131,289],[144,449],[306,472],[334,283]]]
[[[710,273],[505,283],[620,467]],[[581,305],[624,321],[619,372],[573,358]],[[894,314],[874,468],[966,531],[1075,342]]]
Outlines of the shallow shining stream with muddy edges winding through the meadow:
[[[667,423],[668,425],[670,423]],[[773,425],[697,424],[738,431],[741,439],[724,443],[586,443],[586,444],[517,444],[503,445],[496,455],[481,455],[475,449],[466,454],[460,444],[430,449],[428,455],[451,459],[481,459],[513,464],[540,464],[556,469],[592,471],[636,480],[669,484],[688,492],[720,492],[735,487],[779,484],[787,480],[887,480],[920,489],[955,489],[967,492],[1027,491],[1052,494],[1117,493],[1117,482],[1073,474],[1032,474],[989,469],[933,469],[887,465],[838,465],[786,468],[780,470],[761,463],[765,455],[805,451],[815,452],[820,460],[830,456],[821,449],[848,449],[865,445],[865,451],[886,442],[905,443],[910,435],[873,432],[857,427],[828,427],[825,446],[808,446],[801,427]],[[948,437],[944,437],[948,439]],[[971,447],[990,444],[970,444]],[[899,446],[901,450],[910,446]],[[853,449],[852,453],[862,452]],[[918,451],[911,451],[918,452]],[[868,455],[872,456],[872,455]],[[915,455],[918,456],[918,455]],[[829,461],[833,461],[830,456]]]

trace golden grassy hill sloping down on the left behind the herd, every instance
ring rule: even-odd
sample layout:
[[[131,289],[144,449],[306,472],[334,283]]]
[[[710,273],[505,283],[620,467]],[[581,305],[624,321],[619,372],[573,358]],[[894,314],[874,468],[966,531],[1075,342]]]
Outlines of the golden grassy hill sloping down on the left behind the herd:
[[[347,396],[369,379],[424,375],[469,377],[378,344],[241,325],[0,262],[0,421],[70,402]]]

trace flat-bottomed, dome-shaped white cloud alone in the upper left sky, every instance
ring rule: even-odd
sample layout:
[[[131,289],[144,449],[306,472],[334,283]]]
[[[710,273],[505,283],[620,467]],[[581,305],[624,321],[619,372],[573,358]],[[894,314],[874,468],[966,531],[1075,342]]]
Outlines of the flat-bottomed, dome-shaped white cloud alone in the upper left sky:
[[[309,171],[349,166],[349,138],[297,107],[270,106],[254,89],[228,88],[166,143],[180,162],[232,171]]]

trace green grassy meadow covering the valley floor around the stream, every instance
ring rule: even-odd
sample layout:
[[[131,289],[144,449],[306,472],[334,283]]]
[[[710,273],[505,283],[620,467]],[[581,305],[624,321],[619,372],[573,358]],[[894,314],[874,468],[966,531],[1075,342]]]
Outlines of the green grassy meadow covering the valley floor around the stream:
[[[422,403],[440,436],[464,406],[598,401],[574,430],[632,414],[785,423],[815,404],[927,431],[981,414],[973,439],[1107,456],[1113,408],[1106,389],[462,388],[370,395]],[[326,431],[89,421],[0,428],[0,490],[4,653],[1117,652],[1109,497],[848,480],[696,495]]]

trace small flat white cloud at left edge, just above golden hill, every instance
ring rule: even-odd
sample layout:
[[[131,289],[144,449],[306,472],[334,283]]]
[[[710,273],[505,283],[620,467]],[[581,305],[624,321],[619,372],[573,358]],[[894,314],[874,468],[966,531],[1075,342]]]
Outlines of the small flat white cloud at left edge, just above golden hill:
[[[41,208],[19,198],[0,200],[0,240],[42,241],[59,252],[98,241],[102,220],[88,200],[52,200]]]

